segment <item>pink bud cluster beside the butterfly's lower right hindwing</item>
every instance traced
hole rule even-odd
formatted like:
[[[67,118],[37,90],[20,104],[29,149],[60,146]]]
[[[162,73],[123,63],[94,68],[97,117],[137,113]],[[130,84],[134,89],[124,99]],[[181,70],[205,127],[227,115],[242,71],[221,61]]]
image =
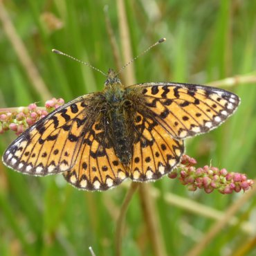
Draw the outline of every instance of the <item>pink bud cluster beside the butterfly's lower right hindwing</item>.
[[[179,172],[179,180],[183,185],[188,185],[188,190],[196,191],[198,188],[210,193],[218,190],[221,194],[246,191],[253,185],[253,180],[247,179],[246,174],[228,172],[213,166],[205,165],[203,168],[194,167],[196,160],[184,155],[179,167],[169,174],[171,179],[176,178]]]

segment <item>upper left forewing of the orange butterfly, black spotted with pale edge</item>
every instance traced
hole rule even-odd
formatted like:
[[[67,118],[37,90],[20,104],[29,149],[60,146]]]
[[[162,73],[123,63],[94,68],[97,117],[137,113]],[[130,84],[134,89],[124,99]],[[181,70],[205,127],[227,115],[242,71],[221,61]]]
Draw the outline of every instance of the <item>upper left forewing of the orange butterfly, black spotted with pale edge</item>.
[[[93,93],[64,104],[24,131],[3,154],[18,172],[44,176],[70,170],[93,122],[86,102]]]

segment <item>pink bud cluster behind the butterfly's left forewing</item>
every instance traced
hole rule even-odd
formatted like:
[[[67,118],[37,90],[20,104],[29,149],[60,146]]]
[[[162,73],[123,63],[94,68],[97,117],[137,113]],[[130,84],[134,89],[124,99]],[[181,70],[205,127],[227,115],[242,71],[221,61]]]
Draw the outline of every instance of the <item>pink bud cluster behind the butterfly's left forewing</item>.
[[[0,134],[10,129],[19,135],[62,104],[64,104],[62,98],[58,100],[53,98],[46,101],[44,108],[32,103],[28,107],[0,109]]]

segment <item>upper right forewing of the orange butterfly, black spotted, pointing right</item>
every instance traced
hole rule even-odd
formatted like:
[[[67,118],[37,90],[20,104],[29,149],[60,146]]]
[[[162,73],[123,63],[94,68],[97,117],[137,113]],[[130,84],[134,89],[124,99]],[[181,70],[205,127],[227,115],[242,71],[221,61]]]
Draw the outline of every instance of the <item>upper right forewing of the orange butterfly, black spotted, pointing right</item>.
[[[234,93],[196,84],[167,82],[129,87],[140,90],[149,113],[174,138],[187,138],[218,127],[240,102]]]

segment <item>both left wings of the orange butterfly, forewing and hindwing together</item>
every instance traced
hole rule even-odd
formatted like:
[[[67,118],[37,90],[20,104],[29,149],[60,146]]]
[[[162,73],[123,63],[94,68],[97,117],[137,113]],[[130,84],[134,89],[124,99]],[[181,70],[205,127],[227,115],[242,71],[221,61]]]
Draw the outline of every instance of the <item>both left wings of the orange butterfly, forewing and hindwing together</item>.
[[[56,109],[19,136],[3,154],[3,163],[25,174],[64,172],[84,190],[107,190],[126,177],[108,134],[95,111],[94,93]],[[94,107],[93,107],[94,106]]]

